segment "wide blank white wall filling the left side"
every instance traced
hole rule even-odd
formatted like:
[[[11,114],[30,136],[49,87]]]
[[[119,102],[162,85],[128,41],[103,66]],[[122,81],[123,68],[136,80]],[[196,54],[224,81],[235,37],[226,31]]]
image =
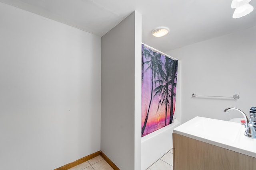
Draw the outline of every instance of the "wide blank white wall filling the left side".
[[[101,39],[0,3],[0,169],[100,150]]]

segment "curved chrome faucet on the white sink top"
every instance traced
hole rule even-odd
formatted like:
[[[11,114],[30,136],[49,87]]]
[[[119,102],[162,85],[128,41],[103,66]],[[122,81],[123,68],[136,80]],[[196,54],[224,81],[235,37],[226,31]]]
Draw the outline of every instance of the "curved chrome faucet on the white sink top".
[[[224,111],[225,112],[228,112],[230,110],[237,110],[239,111],[240,113],[242,113],[242,115],[244,116],[244,119],[245,119],[245,131],[244,131],[244,135],[246,135],[247,137],[250,137],[250,138],[256,138],[256,133],[255,133],[255,130],[254,130],[254,127],[253,127],[253,124],[252,124],[252,121],[248,119],[247,115],[240,109],[236,108],[236,107],[228,107],[226,108]]]

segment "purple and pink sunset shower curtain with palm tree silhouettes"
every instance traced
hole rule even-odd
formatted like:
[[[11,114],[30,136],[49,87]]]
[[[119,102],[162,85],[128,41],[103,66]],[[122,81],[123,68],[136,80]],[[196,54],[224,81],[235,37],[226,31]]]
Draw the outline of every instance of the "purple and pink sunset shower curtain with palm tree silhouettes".
[[[177,70],[178,60],[142,44],[142,137],[172,123]]]

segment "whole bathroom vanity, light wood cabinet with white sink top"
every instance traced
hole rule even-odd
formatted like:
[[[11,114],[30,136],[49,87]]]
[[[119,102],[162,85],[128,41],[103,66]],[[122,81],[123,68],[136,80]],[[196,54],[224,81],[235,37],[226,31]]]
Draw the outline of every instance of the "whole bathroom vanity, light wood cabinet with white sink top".
[[[239,123],[195,117],[173,130],[174,170],[256,170],[256,139]]]

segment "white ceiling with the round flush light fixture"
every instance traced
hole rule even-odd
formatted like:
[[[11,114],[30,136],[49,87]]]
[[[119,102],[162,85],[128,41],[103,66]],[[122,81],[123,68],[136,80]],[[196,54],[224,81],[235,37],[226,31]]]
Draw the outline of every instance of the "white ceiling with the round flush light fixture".
[[[256,25],[256,10],[233,19],[232,0],[0,0],[102,36],[134,10],[142,14],[142,42],[169,51]],[[250,2],[256,8],[256,0]],[[158,26],[170,33],[156,38]]]

